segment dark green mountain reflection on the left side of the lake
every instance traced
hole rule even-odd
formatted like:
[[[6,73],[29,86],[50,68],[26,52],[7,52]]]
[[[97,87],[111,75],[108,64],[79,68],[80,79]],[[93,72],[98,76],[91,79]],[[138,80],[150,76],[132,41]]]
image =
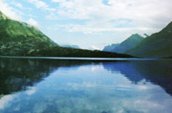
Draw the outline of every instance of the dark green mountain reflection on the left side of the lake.
[[[86,64],[77,61],[0,59],[0,94],[26,89],[40,82],[51,72],[62,66]]]

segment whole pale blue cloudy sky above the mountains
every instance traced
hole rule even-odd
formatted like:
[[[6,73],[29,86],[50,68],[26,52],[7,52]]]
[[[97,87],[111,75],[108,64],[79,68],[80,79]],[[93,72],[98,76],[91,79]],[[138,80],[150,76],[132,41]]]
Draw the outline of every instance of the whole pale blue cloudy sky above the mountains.
[[[130,35],[160,31],[172,21],[172,0],[0,0],[0,11],[59,45],[102,49]]]

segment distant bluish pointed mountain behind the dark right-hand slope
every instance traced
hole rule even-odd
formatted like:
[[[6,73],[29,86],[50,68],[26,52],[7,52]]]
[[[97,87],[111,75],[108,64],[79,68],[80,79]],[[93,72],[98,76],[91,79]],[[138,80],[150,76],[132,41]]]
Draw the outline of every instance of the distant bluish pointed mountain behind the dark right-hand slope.
[[[138,43],[140,43],[144,38],[142,36],[140,36],[139,34],[133,34],[131,35],[129,38],[127,38],[126,40],[124,40],[122,43],[118,44],[118,45],[111,45],[111,46],[106,46],[104,48],[104,50],[106,50],[106,48],[112,48],[110,50],[110,52],[116,52],[116,53],[125,53],[126,51],[134,48]]]

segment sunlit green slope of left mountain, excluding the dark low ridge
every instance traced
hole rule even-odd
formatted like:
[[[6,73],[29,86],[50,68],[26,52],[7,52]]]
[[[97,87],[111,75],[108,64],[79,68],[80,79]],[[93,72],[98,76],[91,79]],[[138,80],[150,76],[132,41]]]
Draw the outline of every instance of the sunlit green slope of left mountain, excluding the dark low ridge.
[[[27,55],[42,48],[58,46],[37,28],[11,20],[0,12],[0,54]]]

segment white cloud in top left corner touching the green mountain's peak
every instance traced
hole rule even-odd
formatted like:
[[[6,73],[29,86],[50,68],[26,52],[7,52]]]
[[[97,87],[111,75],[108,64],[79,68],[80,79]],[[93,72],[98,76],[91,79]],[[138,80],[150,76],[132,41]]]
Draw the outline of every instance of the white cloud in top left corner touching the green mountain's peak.
[[[14,11],[12,7],[4,2],[4,0],[0,0],[0,11],[12,19],[21,20],[21,17]]]

